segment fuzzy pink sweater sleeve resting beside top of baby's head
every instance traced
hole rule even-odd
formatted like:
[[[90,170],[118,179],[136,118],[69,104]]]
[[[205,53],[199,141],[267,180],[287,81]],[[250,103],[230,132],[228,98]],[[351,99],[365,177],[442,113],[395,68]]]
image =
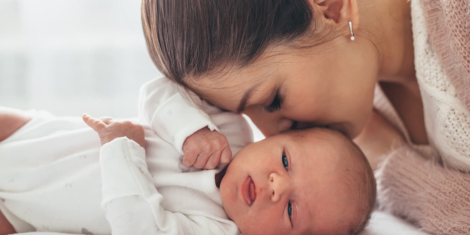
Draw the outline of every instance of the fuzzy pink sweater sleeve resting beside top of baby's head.
[[[394,150],[376,174],[379,205],[439,235],[470,234],[470,174]]]

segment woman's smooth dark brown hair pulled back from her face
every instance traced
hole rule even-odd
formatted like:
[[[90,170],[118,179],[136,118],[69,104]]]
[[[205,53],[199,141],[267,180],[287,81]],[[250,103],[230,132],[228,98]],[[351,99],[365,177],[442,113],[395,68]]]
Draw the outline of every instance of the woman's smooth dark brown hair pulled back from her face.
[[[143,0],[141,10],[150,57],[179,83],[320,34],[306,0]]]

